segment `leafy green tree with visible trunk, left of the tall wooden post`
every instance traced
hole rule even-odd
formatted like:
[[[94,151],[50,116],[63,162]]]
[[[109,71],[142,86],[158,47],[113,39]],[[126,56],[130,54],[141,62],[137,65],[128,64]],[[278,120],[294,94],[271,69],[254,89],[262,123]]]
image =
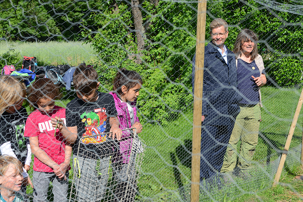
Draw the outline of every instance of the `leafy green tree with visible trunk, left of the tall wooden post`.
[[[144,120],[167,124],[192,101],[195,11],[179,3],[117,2],[109,1],[92,16],[100,27],[97,34],[82,33],[100,59],[103,87],[110,87],[117,69],[136,70],[144,78],[138,100]]]

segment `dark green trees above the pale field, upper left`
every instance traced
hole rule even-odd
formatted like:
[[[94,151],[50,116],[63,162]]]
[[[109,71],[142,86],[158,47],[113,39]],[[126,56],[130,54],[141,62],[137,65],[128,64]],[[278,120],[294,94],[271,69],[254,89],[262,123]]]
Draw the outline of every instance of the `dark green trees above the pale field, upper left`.
[[[90,13],[102,3],[102,0],[1,1],[0,36],[20,41],[78,41],[82,39],[82,21],[89,24],[85,28],[95,29]]]

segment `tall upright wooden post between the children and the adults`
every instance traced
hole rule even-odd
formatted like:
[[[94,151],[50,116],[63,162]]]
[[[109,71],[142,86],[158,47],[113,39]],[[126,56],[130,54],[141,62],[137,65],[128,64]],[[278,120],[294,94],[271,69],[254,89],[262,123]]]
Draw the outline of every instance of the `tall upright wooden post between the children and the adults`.
[[[192,129],[191,156],[191,202],[199,201],[200,193],[200,152],[201,152],[201,116],[203,92],[203,67],[205,48],[206,0],[198,3],[197,41],[194,86],[194,112]]]

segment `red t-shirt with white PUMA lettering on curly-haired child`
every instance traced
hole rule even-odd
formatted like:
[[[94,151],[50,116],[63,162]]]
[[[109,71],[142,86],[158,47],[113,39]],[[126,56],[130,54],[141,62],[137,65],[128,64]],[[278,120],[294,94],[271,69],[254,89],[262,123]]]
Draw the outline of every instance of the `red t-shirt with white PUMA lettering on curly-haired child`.
[[[65,160],[65,141],[59,132],[59,129],[52,127],[51,118],[56,116],[65,121],[65,108],[55,106],[52,113],[45,114],[36,109],[32,112],[26,120],[24,136],[35,137],[38,136],[39,147],[43,149],[47,155],[54,160],[58,165]],[[65,123],[66,124],[66,123]],[[53,172],[53,169],[34,158],[34,171],[39,172]],[[69,170],[70,168],[68,168]]]

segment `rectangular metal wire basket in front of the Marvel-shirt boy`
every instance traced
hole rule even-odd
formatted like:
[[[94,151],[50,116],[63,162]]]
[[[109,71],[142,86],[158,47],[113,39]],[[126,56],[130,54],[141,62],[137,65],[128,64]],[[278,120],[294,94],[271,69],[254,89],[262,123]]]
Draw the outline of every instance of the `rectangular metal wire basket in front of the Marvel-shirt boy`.
[[[131,136],[122,137],[121,141],[112,140],[108,136],[112,132],[84,136],[79,140],[77,155],[72,159],[74,170],[69,202],[135,201],[146,145],[133,129],[122,130],[128,131]],[[110,147],[111,154],[85,151],[80,145],[86,138],[106,139],[105,144],[97,145],[97,149],[102,151],[103,147]],[[125,147],[128,148],[125,150]],[[127,153],[124,159],[121,158],[121,148]],[[80,150],[85,155],[79,155]]]

